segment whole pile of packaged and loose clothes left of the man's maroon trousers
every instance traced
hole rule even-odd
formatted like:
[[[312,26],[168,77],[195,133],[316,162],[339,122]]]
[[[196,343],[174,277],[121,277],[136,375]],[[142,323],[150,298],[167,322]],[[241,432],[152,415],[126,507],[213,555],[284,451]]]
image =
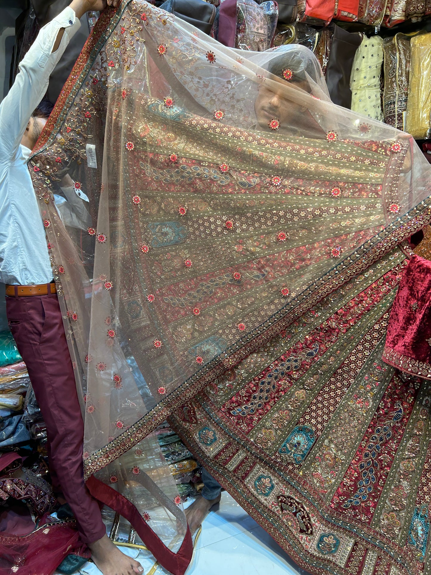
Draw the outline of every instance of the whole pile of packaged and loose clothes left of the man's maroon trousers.
[[[30,390],[30,391],[29,391]],[[34,396],[33,396],[34,397]],[[0,332],[0,531],[2,573],[52,573],[68,553],[84,553],[74,527],[51,514],[58,504],[26,425],[28,409],[39,417],[30,378],[9,330]],[[46,440],[46,434],[43,437]],[[61,529],[57,527],[61,523]],[[49,532],[49,535],[47,535]],[[76,543],[75,543],[76,540]],[[88,555],[88,554],[87,554]]]

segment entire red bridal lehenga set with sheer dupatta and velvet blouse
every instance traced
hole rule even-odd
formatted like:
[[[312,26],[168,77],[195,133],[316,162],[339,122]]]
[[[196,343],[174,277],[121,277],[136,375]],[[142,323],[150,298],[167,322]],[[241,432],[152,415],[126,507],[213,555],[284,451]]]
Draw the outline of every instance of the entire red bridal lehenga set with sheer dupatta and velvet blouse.
[[[234,51],[124,0],[29,169],[87,485],[160,563],[191,557],[151,434],[168,418],[308,572],[428,573],[431,263],[407,240],[431,178],[413,139],[333,105],[306,48]],[[88,231],[53,204],[66,173]]]

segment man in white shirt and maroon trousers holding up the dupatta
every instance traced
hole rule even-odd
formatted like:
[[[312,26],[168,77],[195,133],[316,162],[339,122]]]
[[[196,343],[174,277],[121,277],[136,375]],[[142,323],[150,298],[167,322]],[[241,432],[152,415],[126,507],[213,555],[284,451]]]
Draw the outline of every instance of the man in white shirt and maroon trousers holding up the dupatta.
[[[80,535],[104,575],[142,573],[140,564],[106,535],[97,502],[84,485],[83,421],[74,370],[48,255],[47,239],[27,167],[46,121],[36,110],[79,18],[118,0],[73,0],[44,26],[0,104],[0,282],[6,283],[9,325],[47,425],[53,489],[70,505]],[[33,113],[34,110],[34,113]]]

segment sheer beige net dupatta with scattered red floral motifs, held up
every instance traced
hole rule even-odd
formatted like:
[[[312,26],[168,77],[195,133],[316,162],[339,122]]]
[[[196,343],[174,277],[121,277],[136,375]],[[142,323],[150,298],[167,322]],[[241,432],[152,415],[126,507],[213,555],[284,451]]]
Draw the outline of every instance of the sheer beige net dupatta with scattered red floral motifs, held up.
[[[121,500],[148,547],[155,533],[177,551],[186,524],[149,434],[173,411],[193,419],[199,389],[423,227],[428,163],[407,135],[333,105],[306,48],[245,59],[125,1],[95,26],[30,171],[88,485]],[[53,205],[66,173],[87,232]],[[184,541],[166,557],[189,557]]]

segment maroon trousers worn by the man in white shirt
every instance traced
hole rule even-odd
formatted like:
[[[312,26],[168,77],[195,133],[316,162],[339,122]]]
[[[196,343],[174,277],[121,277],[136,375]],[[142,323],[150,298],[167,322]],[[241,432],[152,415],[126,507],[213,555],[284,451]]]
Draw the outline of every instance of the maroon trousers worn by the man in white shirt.
[[[97,502],[84,485],[84,423],[56,294],[6,297],[9,327],[47,425],[54,492],[63,493],[85,543],[106,533]]]

